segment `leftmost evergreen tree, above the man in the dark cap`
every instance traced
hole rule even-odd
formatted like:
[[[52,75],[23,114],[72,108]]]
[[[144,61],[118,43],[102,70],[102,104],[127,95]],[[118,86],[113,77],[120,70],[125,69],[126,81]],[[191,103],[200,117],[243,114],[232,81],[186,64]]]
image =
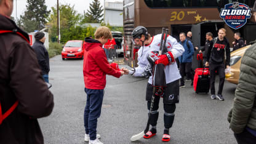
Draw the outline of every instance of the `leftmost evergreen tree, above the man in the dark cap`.
[[[46,18],[50,14],[47,10],[45,0],[26,0],[26,10],[24,15],[20,15],[18,23],[25,31],[32,32],[42,29],[46,23]]]

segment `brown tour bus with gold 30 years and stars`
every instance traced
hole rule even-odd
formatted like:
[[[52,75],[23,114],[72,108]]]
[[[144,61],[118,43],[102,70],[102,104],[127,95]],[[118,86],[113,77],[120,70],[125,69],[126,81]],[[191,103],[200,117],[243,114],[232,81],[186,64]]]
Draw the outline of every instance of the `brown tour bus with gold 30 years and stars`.
[[[226,38],[234,41],[234,33],[239,31],[247,43],[256,39],[256,23],[253,15],[247,19],[246,25],[234,30],[225,24],[220,18],[220,10],[225,4],[235,0],[124,0],[124,60],[127,65],[137,66],[137,55],[134,49],[138,49],[132,42],[132,30],[136,26],[145,26],[151,36],[160,34],[162,28],[168,28],[169,34],[179,41],[179,34],[192,31],[193,42],[196,46],[204,46],[206,33],[212,32],[214,37],[220,28],[225,28]],[[238,1],[249,7],[255,0]],[[136,52],[137,50],[135,50]],[[196,58],[194,58],[196,60]],[[193,66],[196,67],[196,66]]]

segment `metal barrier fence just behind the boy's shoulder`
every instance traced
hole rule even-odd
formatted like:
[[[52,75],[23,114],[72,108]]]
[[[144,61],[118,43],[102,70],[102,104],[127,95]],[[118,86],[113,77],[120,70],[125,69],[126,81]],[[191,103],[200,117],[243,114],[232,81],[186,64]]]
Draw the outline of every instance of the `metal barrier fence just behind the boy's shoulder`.
[[[118,58],[118,52],[117,49],[118,45],[104,45],[103,49],[105,50],[106,58],[108,62],[113,62]]]

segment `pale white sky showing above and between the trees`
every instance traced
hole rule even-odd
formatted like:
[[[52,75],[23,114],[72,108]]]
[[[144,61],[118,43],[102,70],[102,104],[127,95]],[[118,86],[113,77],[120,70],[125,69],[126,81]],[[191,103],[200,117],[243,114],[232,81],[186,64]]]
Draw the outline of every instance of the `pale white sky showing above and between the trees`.
[[[26,10],[26,0],[14,0],[14,10],[12,11],[12,17],[16,18],[16,1],[17,1],[17,18],[23,15]],[[84,10],[87,12],[89,9],[89,4],[93,0],[58,0],[59,4],[70,4],[74,5],[74,9],[78,11],[79,14],[84,14]],[[122,0],[105,0],[105,1],[122,1]],[[104,0],[100,0],[100,4],[103,6]],[[47,9],[50,7],[57,6],[57,0],[46,0]]]

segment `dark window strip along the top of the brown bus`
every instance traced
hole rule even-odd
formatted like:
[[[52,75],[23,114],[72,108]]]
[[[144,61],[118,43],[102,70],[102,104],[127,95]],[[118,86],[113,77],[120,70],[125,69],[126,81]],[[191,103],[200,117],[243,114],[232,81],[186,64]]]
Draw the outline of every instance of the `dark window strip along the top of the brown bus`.
[[[237,0],[144,0],[150,8],[168,8],[168,7],[221,7],[225,4]],[[249,7],[254,6],[255,0],[239,0]]]

